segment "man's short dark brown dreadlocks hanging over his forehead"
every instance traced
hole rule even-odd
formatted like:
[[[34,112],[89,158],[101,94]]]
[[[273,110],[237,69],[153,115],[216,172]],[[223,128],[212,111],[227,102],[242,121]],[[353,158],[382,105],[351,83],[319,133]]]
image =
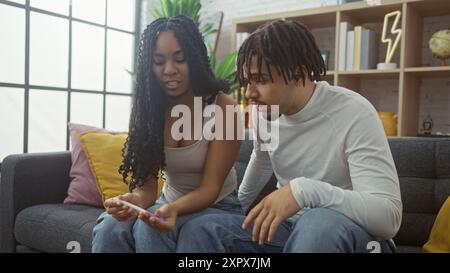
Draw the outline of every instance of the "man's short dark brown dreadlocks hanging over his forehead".
[[[258,77],[261,77],[264,61],[272,82],[269,65],[275,67],[286,84],[291,80],[298,82],[301,79],[305,85],[306,78],[320,81],[321,76],[326,74],[325,62],[313,35],[305,25],[297,21],[268,22],[244,41],[237,57],[236,77],[241,86],[252,80],[252,57],[257,60]]]

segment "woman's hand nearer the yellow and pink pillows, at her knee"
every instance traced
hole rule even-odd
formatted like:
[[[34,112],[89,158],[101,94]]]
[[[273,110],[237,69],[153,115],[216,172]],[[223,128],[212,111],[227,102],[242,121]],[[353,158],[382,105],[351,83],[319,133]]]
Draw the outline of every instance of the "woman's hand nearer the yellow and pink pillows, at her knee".
[[[120,202],[120,200],[124,200],[140,206],[140,198],[135,193],[125,193],[113,198],[109,198],[105,201],[105,207],[106,211],[111,214],[112,217],[114,217],[118,221],[125,221],[138,216],[138,213],[134,209]]]

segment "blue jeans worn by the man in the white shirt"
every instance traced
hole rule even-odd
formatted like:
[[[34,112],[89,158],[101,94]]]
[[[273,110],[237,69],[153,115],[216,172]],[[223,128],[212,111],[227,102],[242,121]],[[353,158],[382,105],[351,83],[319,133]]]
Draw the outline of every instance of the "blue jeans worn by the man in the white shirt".
[[[242,229],[245,216],[208,214],[189,221],[180,232],[179,252],[391,252],[341,213],[326,208],[307,210],[296,222],[290,218],[272,242],[252,242],[253,225]]]

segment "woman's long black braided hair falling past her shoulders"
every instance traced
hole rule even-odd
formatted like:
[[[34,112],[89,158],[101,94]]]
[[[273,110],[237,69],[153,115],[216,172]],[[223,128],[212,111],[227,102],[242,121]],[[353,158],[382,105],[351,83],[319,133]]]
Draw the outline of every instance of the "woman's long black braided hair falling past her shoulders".
[[[164,120],[166,92],[152,71],[153,53],[158,35],[172,31],[180,44],[189,67],[194,96],[206,102],[214,100],[219,91],[229,91],[226,81],[216,79],[209,65],[203,36],[195,23],[184,15],[160,18],[147,26],[139,44],[136,91],[130,115],[129,132],[122,149],[119,168],[130,191],[144,185],[150,177],[158,178],[165,167]],[[127,177],[131,174],[131,178]]]

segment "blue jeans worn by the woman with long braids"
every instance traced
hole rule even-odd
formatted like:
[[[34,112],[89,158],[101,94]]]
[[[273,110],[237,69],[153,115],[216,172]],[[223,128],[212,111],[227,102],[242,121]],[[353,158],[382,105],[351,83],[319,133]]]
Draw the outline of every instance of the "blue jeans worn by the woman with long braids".
[[[155,204],[147,210],[155,212],[165,203],[167,203],[167,200],[161,194]],[[178,216],[176,226],[166,234],[152,229],[141,220],[129,219],[121,222],[104,212],[97,219],[97,224],[94,227],[92,252],[177,252],[178,245],[182,243],[183,239],[179,236],[183,226],[193,219],[206,214],[242,215],[237,193],[231,193],[203,211]]]

